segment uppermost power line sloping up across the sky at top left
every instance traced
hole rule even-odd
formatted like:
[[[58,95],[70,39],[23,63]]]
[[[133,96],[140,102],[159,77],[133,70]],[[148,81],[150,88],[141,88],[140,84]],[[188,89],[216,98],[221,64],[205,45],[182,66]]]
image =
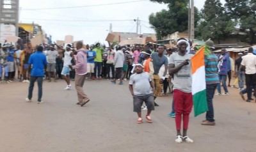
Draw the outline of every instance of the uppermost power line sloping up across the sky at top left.
[[[93,4],[93,5],[85,5],[85,6],[60,7],[60,8],[25,8],[22,10],[57,10],[57,9],[68,9],[68,8],[85,8],[85,7],[93,7],[93,6],[107,6],[107,5],[113,5],[113,4],[134,3],[134,2],[140,2],[140,1],[145,1],[145,0],[127,1],[127,2],[120,2],[120,3],[108,3],[108,4]]]

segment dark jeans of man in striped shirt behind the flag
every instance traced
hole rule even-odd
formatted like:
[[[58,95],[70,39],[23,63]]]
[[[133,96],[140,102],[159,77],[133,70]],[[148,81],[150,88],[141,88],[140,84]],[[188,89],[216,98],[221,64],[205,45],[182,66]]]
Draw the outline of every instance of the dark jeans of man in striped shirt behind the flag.
[[[206,84],[206,100],[208,105],[208,111],[206,112],[206,120],[214,122],[214,109],[212,105],[212,98],[214,96],[216,87],[218,84]]]

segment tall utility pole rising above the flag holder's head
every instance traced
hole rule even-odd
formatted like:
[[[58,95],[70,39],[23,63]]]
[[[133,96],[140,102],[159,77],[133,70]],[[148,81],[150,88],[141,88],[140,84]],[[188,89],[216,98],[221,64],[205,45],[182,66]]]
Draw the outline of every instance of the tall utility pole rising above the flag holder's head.
[[[194,0],[189,0],[188,7],[188,35],[191,42],[195,39],[195,7]]]

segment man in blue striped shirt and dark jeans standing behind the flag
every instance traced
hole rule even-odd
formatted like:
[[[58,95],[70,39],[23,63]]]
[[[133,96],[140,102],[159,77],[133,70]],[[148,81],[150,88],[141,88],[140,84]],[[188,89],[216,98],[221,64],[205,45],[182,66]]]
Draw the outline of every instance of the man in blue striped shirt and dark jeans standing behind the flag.
[[[211,51],[214,49],[213,42],[208,40],[205,45],[209,46]],[[212,98],[214,97],[215,90],[220,83],[218,76],[218,57],[215,54],[205,56],[205,82],[206,82],[206,100],[208,105],[208,111],[206,112],[205,120],[202,125],[215,125],[214,109],[212,104]]]

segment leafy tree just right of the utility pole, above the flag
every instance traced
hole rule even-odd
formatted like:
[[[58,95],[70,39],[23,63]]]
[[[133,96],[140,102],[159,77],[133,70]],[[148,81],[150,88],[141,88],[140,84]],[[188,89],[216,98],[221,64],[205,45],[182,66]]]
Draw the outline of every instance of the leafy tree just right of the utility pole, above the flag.
[[[206,0],[201,11],[202,20],[196,28],[196,38],[207,40],[225,39],[234,31],[235,23],[226,14],[220,0]]]

